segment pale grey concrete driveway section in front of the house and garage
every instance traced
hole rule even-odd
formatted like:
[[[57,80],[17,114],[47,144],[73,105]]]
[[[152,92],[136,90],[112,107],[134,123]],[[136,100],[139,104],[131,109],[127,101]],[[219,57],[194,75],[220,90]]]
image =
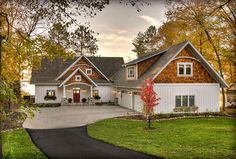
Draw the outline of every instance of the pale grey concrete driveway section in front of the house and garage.
[[[98,120],[125,115],[134,115],[136,112],[119,106],[61,106],[41,108],[33,119],[26,119],[24,128],[55,129],[84,126]]]

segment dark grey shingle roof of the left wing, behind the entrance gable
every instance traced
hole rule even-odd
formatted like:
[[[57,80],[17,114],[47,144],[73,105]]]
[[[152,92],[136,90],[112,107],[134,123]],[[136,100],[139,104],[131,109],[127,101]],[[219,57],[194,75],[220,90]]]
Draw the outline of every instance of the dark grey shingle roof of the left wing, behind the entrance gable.
[[[121,65],[124,64],[122,57],[87,57],[99,70],[107,77],[111,78]],[[57,81],[56,78],[62,74],[78,57],[63,60],[56,58],[49,60],[47,58],[41,59],[41,67],[32,70],[31,83],[32,84],[55,84],[58,85],[62,81]],[[104,66],[103,66],[104,64]],[[112,67],[111,67],[112,66]],[[107,83],[106,80],[94,80],[97,84]]]

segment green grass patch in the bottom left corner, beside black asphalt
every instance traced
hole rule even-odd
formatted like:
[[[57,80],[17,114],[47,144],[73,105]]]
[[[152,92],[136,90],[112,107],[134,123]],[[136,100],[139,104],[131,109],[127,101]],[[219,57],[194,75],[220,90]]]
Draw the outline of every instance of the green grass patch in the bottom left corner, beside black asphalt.
[[[47,157],[32,143],[24,129],[2,133],[3,158],[46,159]]]

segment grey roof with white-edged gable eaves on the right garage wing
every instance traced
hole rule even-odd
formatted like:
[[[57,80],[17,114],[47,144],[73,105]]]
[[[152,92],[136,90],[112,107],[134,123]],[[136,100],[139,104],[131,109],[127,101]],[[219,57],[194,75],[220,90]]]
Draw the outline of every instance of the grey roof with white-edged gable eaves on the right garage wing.
[[[197,51],[197,49],[189,41],[184,41],[182,43],[173,45],[165,51],[154,52],[149,54],[148,57],[154,57],[160,55],[160,58],[137,80],[126,80],[125,67],[116,73],[114,81],[118,87],[130,87],[130,88],[140,88],[143,81],[148,77],[155,79],[162,70],[185,48],[188,47],[192,50],[192,53],[201,61],[203,66],[208,70],[208,72],[221,84],[222,87],[227,87],[227,83],[220,77],[220,75],[214,70],[214,68],[205,60],[205,58]],[[146,57],[147,58],[147,57]],[[134,64],[143,61],[145,58],[141,58],[136,61],[131,61],[128,63]],[[148,59],[148,58],[147,58]],[[127,66],[127,64],[125,64]]]

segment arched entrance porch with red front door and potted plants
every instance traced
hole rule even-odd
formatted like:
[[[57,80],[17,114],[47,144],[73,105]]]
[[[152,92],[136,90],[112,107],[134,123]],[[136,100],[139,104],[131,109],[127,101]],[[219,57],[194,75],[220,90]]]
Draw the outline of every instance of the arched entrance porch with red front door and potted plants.
[[[62,90],[62,104],[92,104],[93,85],[82,82],[74,82],[63,84]]]

